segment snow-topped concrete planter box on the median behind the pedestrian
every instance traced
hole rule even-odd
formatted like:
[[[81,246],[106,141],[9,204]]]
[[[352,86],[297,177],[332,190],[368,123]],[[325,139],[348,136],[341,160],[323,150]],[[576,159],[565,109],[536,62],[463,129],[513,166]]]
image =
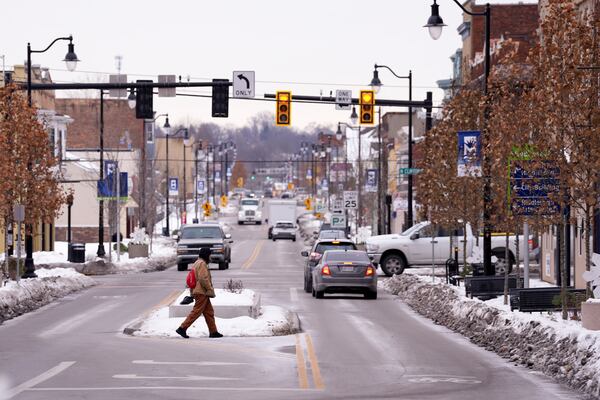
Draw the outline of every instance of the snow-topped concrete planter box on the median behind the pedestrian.
[[[246,289],[247,290],[247,289]],[[217,318],[250,317],[258,318],[260,315],[260,294],[253,292],[250,298],[240,295],[240,301],[231,301],[231,294],[225,294],[223,289],[216,289],[216,297],[210,302]],[[179,297],[169,305],[169,318],[182,318],[192,311],[194,303],[179,304],[185,296],[190,294],[189,289],[184,290]]]

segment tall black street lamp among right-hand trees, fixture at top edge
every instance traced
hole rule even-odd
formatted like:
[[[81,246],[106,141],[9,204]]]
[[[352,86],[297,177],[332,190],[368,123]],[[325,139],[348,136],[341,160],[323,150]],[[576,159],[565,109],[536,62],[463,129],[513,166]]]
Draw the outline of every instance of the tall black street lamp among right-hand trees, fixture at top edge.
[[[488,93],[488,78],[490,76],[491,57],[490,57],[490,30],[491,30],[491,18],[492,9],[489,3],[485,5],[485,11],[483,12],[472,12],[467,10],[458,0],[453,0],[464,13],[473,17],[485,17],[485,43],[484,43],[484,62],[483,62],[483,94],[484,96]],[[437,40],[442,35],[442,29],[446,26],[442,17],[440,17],[439,6],[436,0],[433,0],[431,5],[431,16],[427,20],[426,28],[429,29],[429,35],[432,39]],[[486,106],[483,113],[483,129],[481,132],[482,141],[487,137],[488,128],[488,117],[489,110]],[[483,144],[481,146],[484,148]],[[490,162],[487,152],[483,152],[482,160],[483,169],[483,268],[486,275],[494,275],[495,271],[492,266],[492,227],[490,225],[490,217],[492,213],[492,201],[491,201],[491,170]]]

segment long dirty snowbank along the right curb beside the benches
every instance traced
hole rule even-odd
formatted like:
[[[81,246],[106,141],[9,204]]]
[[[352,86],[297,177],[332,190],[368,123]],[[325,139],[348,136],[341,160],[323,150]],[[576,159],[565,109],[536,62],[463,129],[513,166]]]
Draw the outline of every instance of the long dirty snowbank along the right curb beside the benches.
[[[381,286],[418,313],[468,337],[515,364],[600,396],[600,332],[575,321],[510,312],[468,299],[459,289],[426,278],[396,275]]]

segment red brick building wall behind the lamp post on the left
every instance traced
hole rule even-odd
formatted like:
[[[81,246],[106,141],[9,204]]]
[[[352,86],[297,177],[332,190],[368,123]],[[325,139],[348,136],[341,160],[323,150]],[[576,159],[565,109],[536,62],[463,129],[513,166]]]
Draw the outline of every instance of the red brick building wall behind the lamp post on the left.
[[[67,149],[90,149],[100,146],[100,99],[56,99],[56,111],[69,115]],[[104,148],[116,149],[119,138],[129,131],[131,145],[140,149],[144,120],[135,118],[127,100],[104,99]]]

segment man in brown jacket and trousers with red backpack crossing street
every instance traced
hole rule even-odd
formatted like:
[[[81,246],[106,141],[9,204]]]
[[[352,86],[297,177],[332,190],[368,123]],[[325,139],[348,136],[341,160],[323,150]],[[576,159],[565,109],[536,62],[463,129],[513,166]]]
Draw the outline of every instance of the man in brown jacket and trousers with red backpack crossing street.
[[[210,299],[215,297],[215,289],[212,285],[212,277],[210,276],[210,270],[208,269],[208,262],[210,259],[210,249],[203,247],[200,250],[200,256],[198,260],[192,265],[192,269],[196,274],[196,287],[192,289],[192,296],[194,297],[194,308],[187,316],[185,321],[181,324],[175,332],[180,334],[184,338],[189,338],[186,331],[194,321],[200,317],[200,314],[204,314],[204,320],[208,326],[209,337],[219,338],[223,337],[217,331],[217,325],[215,324],[215,311],[210,304]]]

